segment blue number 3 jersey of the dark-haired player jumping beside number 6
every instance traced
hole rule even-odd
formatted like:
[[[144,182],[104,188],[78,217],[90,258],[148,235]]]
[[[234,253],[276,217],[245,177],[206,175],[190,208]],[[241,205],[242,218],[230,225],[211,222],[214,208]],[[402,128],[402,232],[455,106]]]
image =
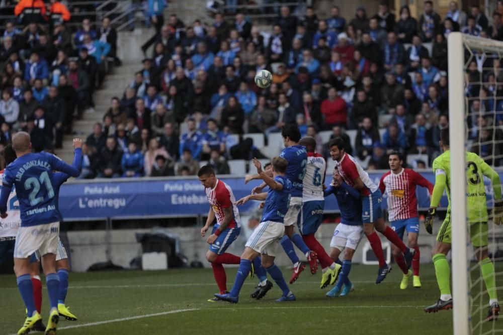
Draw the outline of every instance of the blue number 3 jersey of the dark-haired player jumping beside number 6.
[[[288,162],[285,177],[292,182],[291,196],[302,197],[302,182],[307,169],[307,151],[304,146],[293,145],[280,154]]]

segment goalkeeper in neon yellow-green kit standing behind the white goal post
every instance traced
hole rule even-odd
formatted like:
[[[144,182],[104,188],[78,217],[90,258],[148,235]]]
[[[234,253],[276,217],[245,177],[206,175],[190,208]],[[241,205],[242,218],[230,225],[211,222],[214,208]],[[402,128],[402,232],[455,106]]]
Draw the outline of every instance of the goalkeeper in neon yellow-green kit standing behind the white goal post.
[[[430,204],[430,210],[425,220],[425,227],[428,233],[433,232],[433,221],[435,219],[436,208],[440,203],[440,198],[447,187],[447,198],[449,206],[444,223],[437,235],[437,242],[433,248],[433,263],[437,275],[437,283],[440,288],[440,299],[433,305],[425,308],[425,312],[437,312],[441,309],[452,308],[451,287],[449,283],[450,269],[446,255],[451,250],[451,185],[450,185],[450,155],[449,150],[449,129],[443,129],[440,134],[440,146],[444,153],[433,162],[435,172],[435,188]],[[503,223],[503,203],[501,202],[501,184],[498,174],[485,163],[478,155],[466,153],[466,196],[467,196],[467,216],[470,225],[470,239],[476,248],[475,255],[480,262],[480,270],[485,282],[485,287],[489,294],[489,312],[486,320],[497,320],[499,315],[499,304],[496,294],[494,266],[488,257],[487,252],[487,204],[483,176],[491,180],[494,189],[494,224]],[[455,222],[460,224],[460,222]]]

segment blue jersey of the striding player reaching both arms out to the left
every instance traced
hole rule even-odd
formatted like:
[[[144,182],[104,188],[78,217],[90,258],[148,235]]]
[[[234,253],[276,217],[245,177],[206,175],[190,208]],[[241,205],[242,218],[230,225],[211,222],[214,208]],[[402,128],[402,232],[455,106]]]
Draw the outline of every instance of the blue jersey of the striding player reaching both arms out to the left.
[[[262,214],[262,222],[273,221],[282,224],[290,205],[292,183],[283,176],[276,176],[274,180],[283,185],[283,188],[279,191],[269,188],[264,205],[264,214]]]

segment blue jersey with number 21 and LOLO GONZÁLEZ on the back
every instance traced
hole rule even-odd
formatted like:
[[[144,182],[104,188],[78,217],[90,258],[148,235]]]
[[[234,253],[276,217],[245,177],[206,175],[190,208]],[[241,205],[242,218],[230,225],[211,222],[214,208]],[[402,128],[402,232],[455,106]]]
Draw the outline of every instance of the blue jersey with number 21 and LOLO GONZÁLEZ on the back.
[[[7,200],[15,185],[21,209],[21,227],[59,221],[53,170],[73,177],[79,174],[77,168],[46,152],[29,153],[9,164],[4,172],[0,213],[7,211]]]

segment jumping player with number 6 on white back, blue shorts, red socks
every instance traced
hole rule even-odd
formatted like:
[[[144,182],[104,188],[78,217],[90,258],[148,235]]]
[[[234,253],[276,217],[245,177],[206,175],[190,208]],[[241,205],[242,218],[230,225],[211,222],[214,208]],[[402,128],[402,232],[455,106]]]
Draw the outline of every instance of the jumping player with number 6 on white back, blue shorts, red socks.
[[[335,263],[325,252],[323,246],[316,240],[314,234],[323,220],[323,184],[325,182],[325,159],[315,152],[316,140],[310,136],[303,137],[299,144],[306,147],[307,168],[303,179],[302,209],[299,213],[298,227],[302,239],[309,249],[313,250],[321,264],[320,288],[333,285],[342,265]],[[339,260],[339,259],[337,259]]]

